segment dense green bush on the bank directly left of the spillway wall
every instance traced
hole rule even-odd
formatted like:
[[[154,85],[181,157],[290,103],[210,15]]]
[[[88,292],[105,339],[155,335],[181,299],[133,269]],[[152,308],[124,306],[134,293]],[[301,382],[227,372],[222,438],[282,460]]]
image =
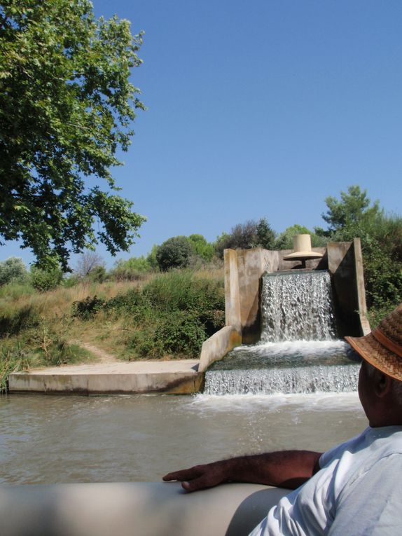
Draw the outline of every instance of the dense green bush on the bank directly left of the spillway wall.
[[[225,324],[223,281],[171,271],[142,291],[131,289],[112,298],[104,310],[125,317],[135,328],[127,341],[131,355],[197,357],[202,343]]]

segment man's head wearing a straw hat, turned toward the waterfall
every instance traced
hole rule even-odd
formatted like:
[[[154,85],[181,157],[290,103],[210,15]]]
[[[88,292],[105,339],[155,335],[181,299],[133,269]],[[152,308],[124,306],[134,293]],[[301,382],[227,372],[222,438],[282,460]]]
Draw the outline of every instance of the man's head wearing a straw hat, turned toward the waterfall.
[[[402,425],[402,303],[370,334],[346,340],[363,357],[359,397],[370,425]]]

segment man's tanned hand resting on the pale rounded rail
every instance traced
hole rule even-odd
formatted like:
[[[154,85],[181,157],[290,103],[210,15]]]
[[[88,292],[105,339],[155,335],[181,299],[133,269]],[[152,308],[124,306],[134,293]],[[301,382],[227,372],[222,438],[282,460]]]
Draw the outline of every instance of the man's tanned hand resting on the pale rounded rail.
[[[178,480],[186,491],[197,491],[205,488],[213,488],[223,482],[228,482],[228,460],[195,465],[190,469],[182,469],[168,473],[163,477],[165,482]]]

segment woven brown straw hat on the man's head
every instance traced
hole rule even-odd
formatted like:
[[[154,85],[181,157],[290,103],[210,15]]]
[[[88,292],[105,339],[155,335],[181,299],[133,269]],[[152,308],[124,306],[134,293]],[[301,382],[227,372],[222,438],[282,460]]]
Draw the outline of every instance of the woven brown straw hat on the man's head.
[[[345,337],[363,359],[402,381],[402,303],[364,337]]]

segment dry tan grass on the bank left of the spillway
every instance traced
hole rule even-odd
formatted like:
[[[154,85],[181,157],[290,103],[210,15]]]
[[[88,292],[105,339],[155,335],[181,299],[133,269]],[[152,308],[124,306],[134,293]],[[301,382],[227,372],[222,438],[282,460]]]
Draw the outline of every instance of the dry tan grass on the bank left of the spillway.
[[[106,302],[118,295],[127,294],[131,289],[141,291],[145,285],[157,277],[164,280],[165,276],[151,273],[136,281],[82,282],[74,287],[59,287],[44,293],[23,293],[20,289],[15,293],[11,291],[9,294],[0,294],[0,324],[1,319],[5,319],[4,329],[7,330],[8,325],[15,325],[13,322],[10,324],[8,319],[11,321],[16,319],[17,322],[17,328],[3,338],[3,341],[9,348],[19,345],[25,351],[33,353],[38,348],[39,351],[43,350],[52,341],[57,341],[57,343],[62,341],[70,345],[90,345],[116,357],[130,359],[130,343],[136,331],[149,328],[147,319],[144,320],[145,324],[142,326],[138,320],[133,322],[130,313],[115,316],[102,310],[99,310],[93,317],[82,319],[71,314],[72,305],[74,302],[85,301],[88,297],[97,296],[99,300]],[[191,277],[222,282],[223,268],[212,266],[202,270],[188,270],[188,272],[183,270],[177,273],[177,284],[181,287],[180,281],[183,280],[185,284],[186,280],[190,280]],[[179,289],[176,290],[179,291]],[[22,315],[24,311],[27,311],[27,315]],[[7,331],[2,333],[4,336]],[[88,357],[83,354],[82,359],[88,359]]]

